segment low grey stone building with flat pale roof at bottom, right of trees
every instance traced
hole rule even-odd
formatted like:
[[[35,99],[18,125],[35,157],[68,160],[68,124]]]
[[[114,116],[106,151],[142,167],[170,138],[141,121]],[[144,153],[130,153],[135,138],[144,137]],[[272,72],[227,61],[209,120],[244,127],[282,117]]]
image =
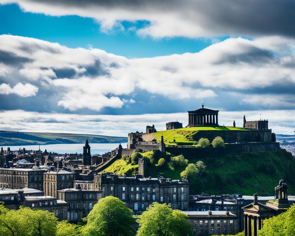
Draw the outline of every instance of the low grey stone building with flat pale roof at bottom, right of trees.
[[[229,211],[183,211],[194,235],[237,234],[238,216]]]

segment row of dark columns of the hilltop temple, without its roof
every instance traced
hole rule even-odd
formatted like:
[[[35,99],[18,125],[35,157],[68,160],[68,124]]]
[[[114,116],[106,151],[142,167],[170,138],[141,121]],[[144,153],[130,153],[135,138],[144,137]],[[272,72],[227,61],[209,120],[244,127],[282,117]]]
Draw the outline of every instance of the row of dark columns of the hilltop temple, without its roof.
[[[218,125],[218,113],[189,113],[189,125]]]

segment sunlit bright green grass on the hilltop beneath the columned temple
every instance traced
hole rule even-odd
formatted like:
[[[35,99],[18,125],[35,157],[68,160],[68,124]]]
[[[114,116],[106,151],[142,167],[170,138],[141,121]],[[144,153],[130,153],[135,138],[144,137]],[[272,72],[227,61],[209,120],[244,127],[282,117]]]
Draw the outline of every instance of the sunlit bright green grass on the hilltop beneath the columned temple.
[[[246,128],[240,127],[222,127],[222,126],[202,126],[202,127],[191,127],[191,128],[180,128],[166,131],[160,131],[148,134],[149,139],[156,139],[158,142],[161,141],[161,136],[164,136],[164,142],[166,145],[176,145],[181,143],[182,145],[192,145],[193,135],[200,130],[245,130]],[[175,140],[175,142],[173,142]]]

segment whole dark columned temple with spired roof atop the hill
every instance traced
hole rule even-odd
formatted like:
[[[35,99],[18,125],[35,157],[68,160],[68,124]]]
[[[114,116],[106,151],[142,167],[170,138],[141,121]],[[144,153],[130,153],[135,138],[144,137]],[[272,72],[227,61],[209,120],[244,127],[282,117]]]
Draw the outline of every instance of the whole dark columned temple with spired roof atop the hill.
[[[202,125],[218,126],[218,110],[202,108],[195,111],[188,111],[188,125],[186,127],[195,127]]]

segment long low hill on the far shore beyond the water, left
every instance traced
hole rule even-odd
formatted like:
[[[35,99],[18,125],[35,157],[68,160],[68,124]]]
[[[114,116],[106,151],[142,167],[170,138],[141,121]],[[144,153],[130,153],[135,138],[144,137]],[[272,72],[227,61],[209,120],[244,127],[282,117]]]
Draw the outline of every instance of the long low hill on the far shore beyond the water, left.
[[[92,134],[34,133],[0,131],[0,145],[47,145],[47,144],[81,144],[86,138],[90,143],[127,143],[126,137],[112,137]]]

